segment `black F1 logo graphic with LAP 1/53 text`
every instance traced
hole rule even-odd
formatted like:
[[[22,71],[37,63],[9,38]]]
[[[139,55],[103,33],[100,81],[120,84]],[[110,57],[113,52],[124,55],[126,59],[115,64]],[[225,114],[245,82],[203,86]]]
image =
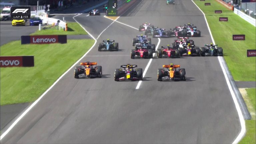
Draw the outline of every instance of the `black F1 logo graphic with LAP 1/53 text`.
[[[28,6],[11,7],[11,19],[30,19],[31,8]]]

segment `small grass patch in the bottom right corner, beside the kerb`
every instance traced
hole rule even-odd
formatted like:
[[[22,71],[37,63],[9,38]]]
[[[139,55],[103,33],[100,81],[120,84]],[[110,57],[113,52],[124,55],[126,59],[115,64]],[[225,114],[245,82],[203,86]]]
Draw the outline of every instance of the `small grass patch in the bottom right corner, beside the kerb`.
[[[253,113],[255,115],[256,111],[256,89],[255,88],[249,88],[246,89],[247,97],[249,99],[250,104],[246,103],[246,105],[252,105],[253,110],[250,111],[250,113]],[[246,125],[246,135],[244,138],[239,142],[239,144],[255,144],[256,143],[256,120],[255,116],[252,116],[251,120],[245,120]]]

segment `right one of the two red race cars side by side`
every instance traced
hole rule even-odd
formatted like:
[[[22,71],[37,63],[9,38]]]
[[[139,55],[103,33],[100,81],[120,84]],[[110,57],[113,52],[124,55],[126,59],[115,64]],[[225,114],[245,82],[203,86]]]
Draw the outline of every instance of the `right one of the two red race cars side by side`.
[[[157,57],[180,57],[180,50],[175,49],[174,47],[167,45],[161,46],[161,49],[157,49]]]

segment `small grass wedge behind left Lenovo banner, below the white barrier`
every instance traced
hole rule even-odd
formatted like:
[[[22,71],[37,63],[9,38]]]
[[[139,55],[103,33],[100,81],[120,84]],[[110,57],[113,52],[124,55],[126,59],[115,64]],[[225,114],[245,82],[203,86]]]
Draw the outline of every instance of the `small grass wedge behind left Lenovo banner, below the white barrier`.
[[[88,33],[76,22],[67,22],[68,31],[47,29],[36,31],[30,35],[87,35]]]

